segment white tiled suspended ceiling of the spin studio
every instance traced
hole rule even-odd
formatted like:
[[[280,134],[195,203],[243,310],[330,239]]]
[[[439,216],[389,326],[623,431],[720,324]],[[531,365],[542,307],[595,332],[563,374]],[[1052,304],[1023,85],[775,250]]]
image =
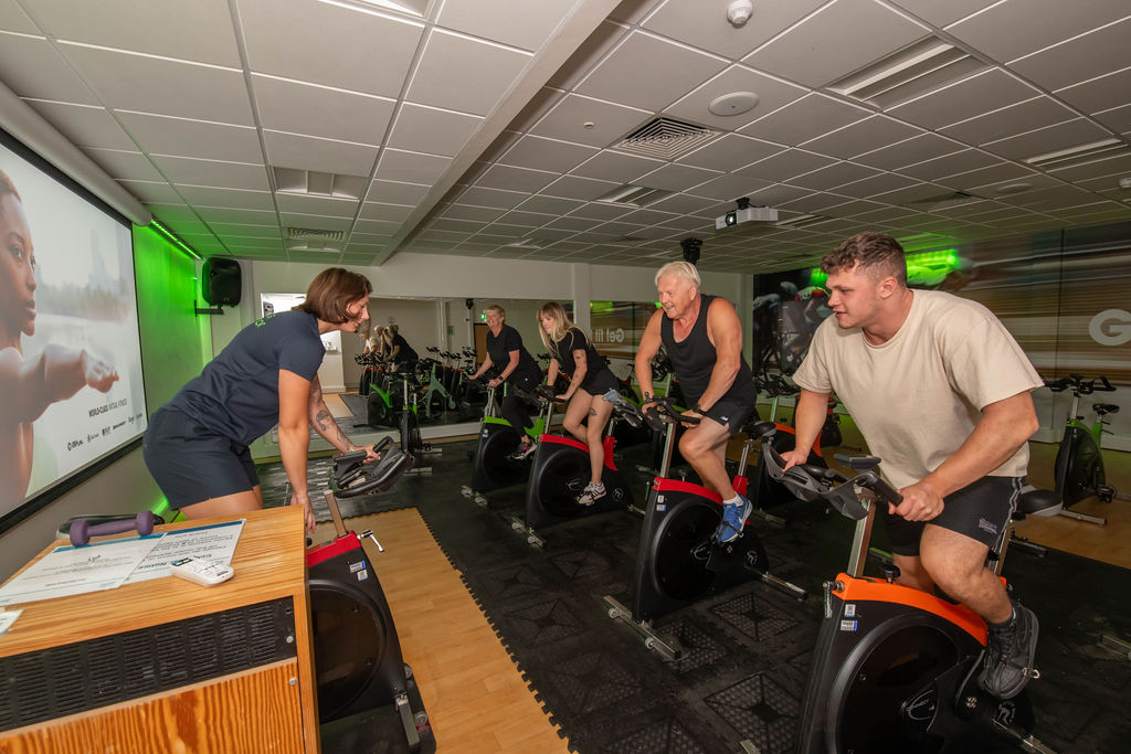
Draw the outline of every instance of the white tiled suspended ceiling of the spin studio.
[[[701,268],[751,272],[862,229],[940,248],[1131,219],[1126,0],[754,0],[741,27],[729,0],[415,5],[0,0],[0,80],[205,254],[655,267],[694,236]],[[938,44],[950,68],[852,96]],[[739,92],[758,105],[710,113]],[[616,146],[659,115],[716,132]],[[597,201],[624,184],[671,193]],[[813,217],[716,232],[739,197]]]

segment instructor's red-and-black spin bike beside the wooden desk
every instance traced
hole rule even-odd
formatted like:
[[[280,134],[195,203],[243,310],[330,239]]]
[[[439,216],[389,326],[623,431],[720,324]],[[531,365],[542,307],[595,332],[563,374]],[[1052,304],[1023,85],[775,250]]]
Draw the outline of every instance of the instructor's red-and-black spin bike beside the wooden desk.
[[[435,736],[375,569],[385,548],[372,531],[346,530],[338,511],[337,497],[383,492],[413,466],[389,437],[374,450],[372,463],[364,450],[335,457],[326,504],[336,536],[307,551],[319,734],[327,752],[431,753]]]

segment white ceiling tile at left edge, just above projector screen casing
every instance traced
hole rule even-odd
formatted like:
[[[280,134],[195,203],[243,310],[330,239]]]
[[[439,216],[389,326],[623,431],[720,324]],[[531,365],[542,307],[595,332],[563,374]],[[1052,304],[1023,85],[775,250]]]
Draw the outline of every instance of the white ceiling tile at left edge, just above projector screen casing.
[[[0,32],[0,76],[25,98],[98,104],[67,61],[42,37]]]

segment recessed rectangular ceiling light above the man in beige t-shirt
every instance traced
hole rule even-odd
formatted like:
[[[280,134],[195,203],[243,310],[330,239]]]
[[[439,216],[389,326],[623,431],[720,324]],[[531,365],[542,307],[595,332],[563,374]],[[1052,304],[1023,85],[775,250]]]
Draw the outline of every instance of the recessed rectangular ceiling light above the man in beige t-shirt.
[[[877,107],[913,99],[988,66],[932,36],[834,81],[829,88]]]

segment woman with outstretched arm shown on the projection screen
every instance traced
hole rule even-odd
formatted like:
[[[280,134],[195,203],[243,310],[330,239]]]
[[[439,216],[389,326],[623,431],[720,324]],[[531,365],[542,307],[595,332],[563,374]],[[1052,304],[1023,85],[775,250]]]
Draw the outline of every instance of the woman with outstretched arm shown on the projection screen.
[[[48,344],[24,354],[35,335],[35,244],[16,185],[0,171],[0,515],[24,502],[32,478],[34,422],[83,388],[107,392],[118,372],[85,349]]]

